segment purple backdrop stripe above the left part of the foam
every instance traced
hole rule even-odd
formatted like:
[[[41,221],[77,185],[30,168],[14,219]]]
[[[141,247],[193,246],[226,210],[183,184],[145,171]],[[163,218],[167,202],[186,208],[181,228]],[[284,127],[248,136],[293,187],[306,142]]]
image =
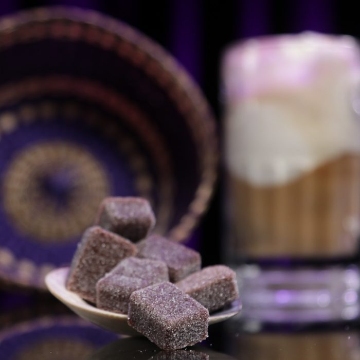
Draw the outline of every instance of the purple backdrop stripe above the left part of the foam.
[[[270,0],[238,0],[235,31],[238,38],[266,35],[270,30]]]

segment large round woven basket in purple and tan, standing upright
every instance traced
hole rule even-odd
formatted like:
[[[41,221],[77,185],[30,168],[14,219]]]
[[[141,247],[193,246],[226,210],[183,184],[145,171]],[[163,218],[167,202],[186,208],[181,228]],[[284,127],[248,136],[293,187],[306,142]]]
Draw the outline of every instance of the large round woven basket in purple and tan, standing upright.
[[[99,202],[147,197],[186,239],[211,195],[214,121],[199,88],[128,25],[74,8],[0,20],[0,277],[43,287]]]

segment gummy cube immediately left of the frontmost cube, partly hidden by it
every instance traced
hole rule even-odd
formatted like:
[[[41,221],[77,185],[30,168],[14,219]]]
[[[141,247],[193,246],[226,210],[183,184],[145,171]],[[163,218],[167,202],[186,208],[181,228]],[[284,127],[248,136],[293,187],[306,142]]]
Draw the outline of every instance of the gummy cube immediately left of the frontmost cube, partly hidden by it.
[[[148,286],[147,280],[122,275],[109,275],[96,284],[96,306],[114,313],[127,314],[130,295]]]

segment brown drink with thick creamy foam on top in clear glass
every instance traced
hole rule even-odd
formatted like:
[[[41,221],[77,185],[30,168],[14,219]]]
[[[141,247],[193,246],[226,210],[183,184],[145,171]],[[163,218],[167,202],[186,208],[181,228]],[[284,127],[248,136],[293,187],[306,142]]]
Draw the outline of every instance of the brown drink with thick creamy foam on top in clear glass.
[[[353,256],[360,233],[360,55],[312,32],[247,40],[223,62],[236,258]]]

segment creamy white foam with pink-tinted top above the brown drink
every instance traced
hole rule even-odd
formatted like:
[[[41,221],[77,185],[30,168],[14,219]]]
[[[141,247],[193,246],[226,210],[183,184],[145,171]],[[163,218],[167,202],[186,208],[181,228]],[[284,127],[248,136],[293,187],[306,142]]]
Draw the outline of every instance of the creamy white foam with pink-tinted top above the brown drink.
[[[350,37],[254,39],[225,55],[229,170],[261,186],[360,154],[360,55]]]

